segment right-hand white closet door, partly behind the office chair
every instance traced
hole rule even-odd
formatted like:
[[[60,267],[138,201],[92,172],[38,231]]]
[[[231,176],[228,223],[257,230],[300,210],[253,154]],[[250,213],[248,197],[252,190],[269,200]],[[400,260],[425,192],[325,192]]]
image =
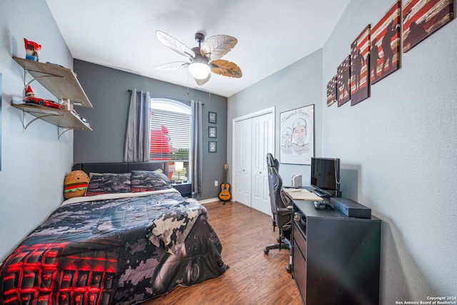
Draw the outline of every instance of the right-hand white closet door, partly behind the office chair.
[[[273,114],[256,116],[252,121],[252,182],[251,206],[253,209],[271,214],[268,195],[268,170],[266,154],[274,154]]]

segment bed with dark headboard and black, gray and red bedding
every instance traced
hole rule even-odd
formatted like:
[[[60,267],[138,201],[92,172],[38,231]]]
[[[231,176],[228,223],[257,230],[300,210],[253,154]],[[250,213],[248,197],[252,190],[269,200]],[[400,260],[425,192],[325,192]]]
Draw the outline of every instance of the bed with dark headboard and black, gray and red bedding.
[[[136,304],[228,269],[206,209],[170,186],[166,162],[73,170],[94,174],[91,196],[65,200],[6,258],[0,304]]]

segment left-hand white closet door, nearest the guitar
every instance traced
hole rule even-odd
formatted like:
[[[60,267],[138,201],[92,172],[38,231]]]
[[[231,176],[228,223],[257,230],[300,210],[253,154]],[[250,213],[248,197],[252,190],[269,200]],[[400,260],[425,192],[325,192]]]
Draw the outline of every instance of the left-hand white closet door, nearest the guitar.
[[[251,206],[251,119],[236,123],[236,181],[233,199]]]

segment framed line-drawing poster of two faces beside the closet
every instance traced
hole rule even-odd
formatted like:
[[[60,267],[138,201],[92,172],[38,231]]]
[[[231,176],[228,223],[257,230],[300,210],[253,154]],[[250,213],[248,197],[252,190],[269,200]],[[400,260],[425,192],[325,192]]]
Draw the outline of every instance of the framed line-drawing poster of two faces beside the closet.
[[[281,112],[280,161],[311,165],[314,156],[314,105]]]

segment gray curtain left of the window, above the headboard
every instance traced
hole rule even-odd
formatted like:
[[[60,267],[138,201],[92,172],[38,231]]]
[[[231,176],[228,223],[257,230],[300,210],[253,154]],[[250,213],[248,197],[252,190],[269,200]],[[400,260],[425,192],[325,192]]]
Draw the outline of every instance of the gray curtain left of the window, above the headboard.
[[[131,91],[124,162],[148,162],[151,156],[151,98],[149,92]]]

